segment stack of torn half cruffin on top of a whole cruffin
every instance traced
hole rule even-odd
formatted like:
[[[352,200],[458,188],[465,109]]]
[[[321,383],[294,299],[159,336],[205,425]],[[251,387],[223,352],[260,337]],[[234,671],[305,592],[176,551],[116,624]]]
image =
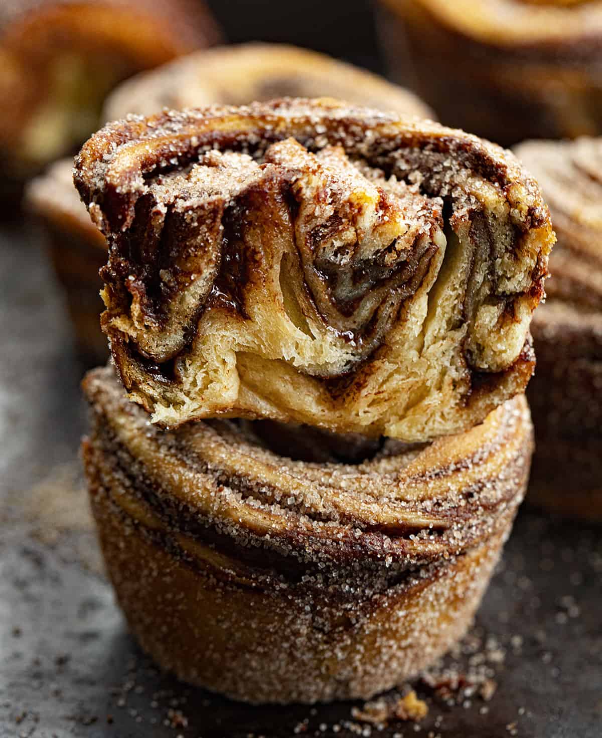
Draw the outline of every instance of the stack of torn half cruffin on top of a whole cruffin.
[[[114,359],[83,457],[142,647],[255,703],[420,672],[525,492],[533,179],[462,131],[288,99],[111,123],[75,183]]]

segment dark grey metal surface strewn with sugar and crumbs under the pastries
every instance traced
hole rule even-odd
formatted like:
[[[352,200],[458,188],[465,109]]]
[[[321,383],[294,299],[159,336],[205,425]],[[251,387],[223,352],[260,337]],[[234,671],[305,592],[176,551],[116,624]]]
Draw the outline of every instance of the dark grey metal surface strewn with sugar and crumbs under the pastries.
[[[1,737],[602,735],[602,531],[526,510],[477,618],[497,681],[488,703],[429,695],[421,725],[380,732],[349,704],[251,708],[159,675],[95,549],[77,472],[82,368],[60,294],[35,238],[8,228],[0,345]]]

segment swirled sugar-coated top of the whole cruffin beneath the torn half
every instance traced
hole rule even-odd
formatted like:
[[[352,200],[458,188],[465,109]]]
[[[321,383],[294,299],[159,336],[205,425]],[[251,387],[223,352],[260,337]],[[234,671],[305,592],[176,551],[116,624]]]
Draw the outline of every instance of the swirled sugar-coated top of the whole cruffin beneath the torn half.
[[[353,570],[354,582],[374,587],[378,571],[394,578],[463,554],[508,525],[532,450],[523,396],[462,435],[416,446],[386,441],[350,465],[277,455],[253,424],[149,427],[110,367],[89,373],[83,388],[103,485],[111,490],[112,477],[128,489],[116,505],[181,542],[211,545],[215,556],[235,553],[236,568],[258,573],[303,576],[315,566],[345,579]]]

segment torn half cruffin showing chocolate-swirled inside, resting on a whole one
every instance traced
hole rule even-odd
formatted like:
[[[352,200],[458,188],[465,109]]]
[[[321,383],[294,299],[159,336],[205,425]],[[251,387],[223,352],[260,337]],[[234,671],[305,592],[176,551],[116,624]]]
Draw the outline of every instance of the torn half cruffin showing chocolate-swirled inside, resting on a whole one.
[[[131,117],[75,181],[131,399],[424,441],[520,393],[553,243],[516,159],[333,100]]]

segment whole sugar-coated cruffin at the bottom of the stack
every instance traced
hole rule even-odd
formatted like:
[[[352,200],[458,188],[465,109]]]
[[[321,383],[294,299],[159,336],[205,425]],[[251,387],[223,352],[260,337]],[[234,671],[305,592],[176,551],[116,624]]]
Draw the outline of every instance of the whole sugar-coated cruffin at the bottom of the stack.
[[[522,396],[350,465],[278,455],[252,422],[159,430],[111,368],[84,389],[91,501],[131,629],[163,668],[251,702],[367,698],[449,648],[528,475]]]

